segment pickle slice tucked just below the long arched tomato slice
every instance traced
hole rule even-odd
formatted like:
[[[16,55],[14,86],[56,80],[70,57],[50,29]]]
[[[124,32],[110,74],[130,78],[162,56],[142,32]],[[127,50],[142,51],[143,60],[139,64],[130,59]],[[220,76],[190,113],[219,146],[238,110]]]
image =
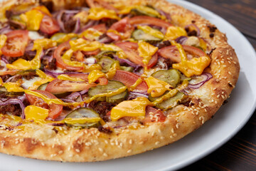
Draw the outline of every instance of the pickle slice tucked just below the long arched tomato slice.
[[[148,43],[158,43],[159,41],[161,41],[160,38],[152,36],[149,33],[145,33],[141,29],[137,29],[134,32],[132,32],[132,38],[134,38],[137,41],[143,40],[143,41],[146,41]]]

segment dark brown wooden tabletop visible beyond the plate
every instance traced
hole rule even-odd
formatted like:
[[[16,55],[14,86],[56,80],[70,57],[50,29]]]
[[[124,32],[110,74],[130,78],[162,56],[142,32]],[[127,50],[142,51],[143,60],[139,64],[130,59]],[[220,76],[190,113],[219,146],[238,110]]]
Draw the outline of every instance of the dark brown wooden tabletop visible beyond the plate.
[[[238,28],[256,49],[256,0],[188,0],[213,11]],[[253,78],[256,79],[256,78]],[[225,145],[186,170],[256,170],[256,111]]]

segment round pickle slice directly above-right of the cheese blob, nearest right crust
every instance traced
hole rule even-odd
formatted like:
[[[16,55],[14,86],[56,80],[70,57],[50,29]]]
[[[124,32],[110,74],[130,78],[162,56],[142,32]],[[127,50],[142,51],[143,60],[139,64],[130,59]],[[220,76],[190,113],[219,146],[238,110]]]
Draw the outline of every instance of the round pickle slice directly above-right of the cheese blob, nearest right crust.
[[[181,81],[181,73],[176,69],[156,71],[151,76],[169,83],[169,85],[173,86],[174,88]]]

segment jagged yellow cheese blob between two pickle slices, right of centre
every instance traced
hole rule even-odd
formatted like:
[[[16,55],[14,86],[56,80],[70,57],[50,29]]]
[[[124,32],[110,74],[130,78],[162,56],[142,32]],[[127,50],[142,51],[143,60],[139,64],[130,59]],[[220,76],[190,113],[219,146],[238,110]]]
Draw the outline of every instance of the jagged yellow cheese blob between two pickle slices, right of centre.
[[[166,90],[171,90],[171,86],[169,83],[166,83],[164,81],[160,81],[159,79],[156,79],[152,76],[149,76],[149,78],[145,79],[147,86],[149,86],[149,89],[147,90],[148,93],[151,93],[152,98],[159,97],[160,95],[163,95]]]

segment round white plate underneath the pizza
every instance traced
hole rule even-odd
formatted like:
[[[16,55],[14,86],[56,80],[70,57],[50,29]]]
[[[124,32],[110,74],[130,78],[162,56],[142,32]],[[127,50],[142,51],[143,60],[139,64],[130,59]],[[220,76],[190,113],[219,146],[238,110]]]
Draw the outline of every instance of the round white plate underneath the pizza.
[[[0,0],[1,1],[1,0]],[[212,12],[187,1],[171,1],[194,11],[220,31],[227,33],[228,42],[240,60],[238,84],[228,103],[220,108],[215,117],[178,142],[140,155],[94,163],[68,163],[33,160],[0,154],[0,170],[177,170],[195,162],[230,140],[249,120],[255,110],[256,55],[242,34],[227,21]]]

